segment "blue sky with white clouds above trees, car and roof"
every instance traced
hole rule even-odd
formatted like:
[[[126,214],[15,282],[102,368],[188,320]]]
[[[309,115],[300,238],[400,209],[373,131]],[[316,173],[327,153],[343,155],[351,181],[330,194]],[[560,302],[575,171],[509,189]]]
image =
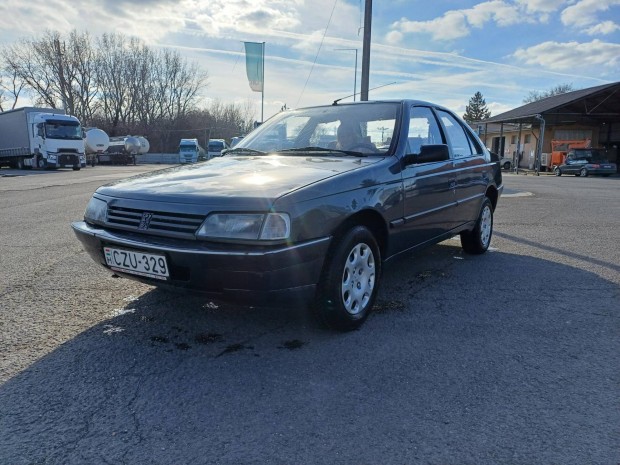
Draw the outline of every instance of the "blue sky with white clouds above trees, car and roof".
[[[243,41],[265,42],[265,118],[357,91],[365,0],[2,0],[0,46],[45,29],[122,32],[209,74],[203,98],[256,105]],[[620,81],[620,0],[374,0],[370,99],[416,98],[493,115],[532,90]],[[349,50],[341,50],[349,49]],[[378,87],[375,90],[372,88]],[[352,100],[352,99],[348,99]]]

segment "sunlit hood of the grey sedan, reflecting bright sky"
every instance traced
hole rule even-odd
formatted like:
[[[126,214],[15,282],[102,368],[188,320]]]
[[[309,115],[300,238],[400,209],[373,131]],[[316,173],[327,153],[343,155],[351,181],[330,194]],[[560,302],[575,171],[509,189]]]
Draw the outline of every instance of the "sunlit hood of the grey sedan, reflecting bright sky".
[[[376,163],[379,157],[224,156],[141,174],[97,189],[132,200],[234,205],[274,201],[323,179]]]

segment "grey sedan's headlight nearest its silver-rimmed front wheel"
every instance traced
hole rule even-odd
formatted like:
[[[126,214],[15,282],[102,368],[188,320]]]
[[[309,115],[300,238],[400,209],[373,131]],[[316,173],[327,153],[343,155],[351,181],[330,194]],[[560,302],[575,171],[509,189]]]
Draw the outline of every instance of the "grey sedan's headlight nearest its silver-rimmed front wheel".
[[[281,240],[291,232],[286,213],[214,213],[202,224],[198,237],[222,239]]]

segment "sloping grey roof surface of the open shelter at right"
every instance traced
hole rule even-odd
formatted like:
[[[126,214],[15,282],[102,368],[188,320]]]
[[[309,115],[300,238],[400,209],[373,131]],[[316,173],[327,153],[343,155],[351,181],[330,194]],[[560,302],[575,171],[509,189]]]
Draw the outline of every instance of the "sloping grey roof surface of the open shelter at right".
[[[481,123],[501,123],[501,122],[518,122],[519,120],[527,120],[533,118],[534,115],[543,115],[545,113],[559,110],[562,107],[569,105],[587,97],[593,96],[600,92],[605,92],[614,87],[620,90],[620,82],[614,82],[611,84],[603,84],[601,86],[589,87],[587,89],[575,90],[573,92],[567,92],[565,94],[554,95],[553,97],[547,97],[536,102],[531,102],[522,107],[515,108],[513,110],[501,113],[491,118],[480,121]]]

